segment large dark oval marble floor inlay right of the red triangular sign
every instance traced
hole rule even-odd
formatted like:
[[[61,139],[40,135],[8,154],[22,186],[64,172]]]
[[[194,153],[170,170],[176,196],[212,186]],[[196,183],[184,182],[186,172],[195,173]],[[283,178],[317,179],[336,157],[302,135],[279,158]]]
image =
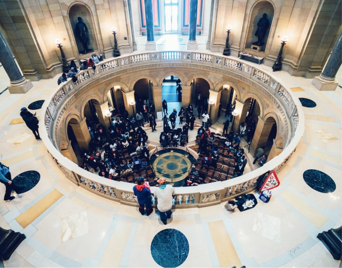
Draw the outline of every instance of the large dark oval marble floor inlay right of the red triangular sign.
[[[316,169],[308,169],[303,173],[303,179],[312,189],[321,193],[332,193],[336,184],[330,176]]]

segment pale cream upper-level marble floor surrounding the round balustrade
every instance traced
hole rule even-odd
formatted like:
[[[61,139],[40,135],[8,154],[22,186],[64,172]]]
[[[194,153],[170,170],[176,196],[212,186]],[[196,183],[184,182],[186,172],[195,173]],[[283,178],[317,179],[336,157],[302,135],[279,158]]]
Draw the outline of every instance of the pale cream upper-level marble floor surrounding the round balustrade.
[[[160,267],[161,262],[156,261],[160,252],[155,250],[162,237],[156,234],[166,229],[180,233],[180,240],[164,251],[177,251],[177,241],[188,245],[184,258],[173,266],[341,267],[341,261],[334,260],[316,236],[342,225],[342,89],[318,91],[311,79],[261,68],[277,76],[294,96],[317,104],[303,107],[306,130],[278,174],[280,186],[272,190],[268,203],[259,201],[251,210],[232,213],[223,203],[177,209],[164,225],[155,212],[142,216],[135,207],[93,195],[71,183],[43,143],[19,120],[20,107],[47,98],[56,89],[58,76],[33,82],[33,89],[26,94],[10,94],[3,91],[9,83],[0,67],[1,161],[10,166],[13,178],[29,170],[40,174],[33,189],[14,193],[12,201],[0,198],[0,226],[26,235],[0,267]],[[36,111],[43,117],[40,109]],[[213,129],[222,128],[220,121]],[[147,128],[147,132],[159,136],[160,127],[154,133]],[[303,178],[308,169],[327,174],[336,189],[321,193],[311,188]],[[1,197],[4,192],[1,184]],[[51,198],[54,202],[49,203]],[[33,217],[37,207],[40,213]]]

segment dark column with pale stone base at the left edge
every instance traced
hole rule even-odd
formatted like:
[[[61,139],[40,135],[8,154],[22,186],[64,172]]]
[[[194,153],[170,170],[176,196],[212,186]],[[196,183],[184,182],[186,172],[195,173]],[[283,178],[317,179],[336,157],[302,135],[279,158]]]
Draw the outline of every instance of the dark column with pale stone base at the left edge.
[[[26,93],[33,85],[30,80],[26,80],[13,58],[13,53],[7,43],[5,36],[0,31],[0,62],[10,78],[10,85],[7,87],[10,93]]]

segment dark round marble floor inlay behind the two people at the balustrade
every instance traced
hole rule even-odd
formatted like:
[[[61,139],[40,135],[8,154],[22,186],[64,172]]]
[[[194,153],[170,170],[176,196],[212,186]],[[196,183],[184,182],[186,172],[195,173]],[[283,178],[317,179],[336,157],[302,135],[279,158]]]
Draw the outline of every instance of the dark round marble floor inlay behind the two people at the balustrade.
[[[178,267],[188,258],[189,243],[182,232],[164,229],[158,232],[151,243],[151,254],[161,267]]]

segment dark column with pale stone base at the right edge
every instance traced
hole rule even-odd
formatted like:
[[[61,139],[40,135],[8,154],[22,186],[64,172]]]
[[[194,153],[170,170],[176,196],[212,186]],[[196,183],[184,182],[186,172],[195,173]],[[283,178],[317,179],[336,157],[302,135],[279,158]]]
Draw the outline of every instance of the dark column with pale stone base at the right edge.
[[[312,85],[318,90],[335,90],[339,83],[336,83],[336,73],[342,64],[342,34],[337,39],[331,55],[320,76],[312,80]]]

